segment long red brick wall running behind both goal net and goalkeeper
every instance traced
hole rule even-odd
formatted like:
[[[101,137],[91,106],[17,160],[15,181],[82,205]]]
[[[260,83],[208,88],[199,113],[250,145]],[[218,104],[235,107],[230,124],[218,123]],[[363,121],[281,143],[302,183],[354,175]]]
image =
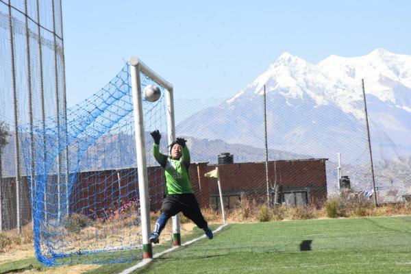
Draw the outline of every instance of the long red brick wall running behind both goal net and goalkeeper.
[[[201,207],[210,206],[210,195],[218,194],[216,178],[204,173],[219,167],[223,195],[244,192],[251,199],[266,201],[265,163],[191,164],[189,173],[192,187]],[[119,173],[119,175],[118,175]],[[149,199],[151,210],[160,210],[164,176],[160,166],[150,167]],[[282,186],[282,190],[308,190],[309,201],[322,201],[327,197],[325,159],[271,161],[269,182]],[[71,211],[98,217],[116,210],[138,196],[137,169],[119,171],[89,171],[79,173],[71,195]],[[92,205],[91,207],[89,205]]]

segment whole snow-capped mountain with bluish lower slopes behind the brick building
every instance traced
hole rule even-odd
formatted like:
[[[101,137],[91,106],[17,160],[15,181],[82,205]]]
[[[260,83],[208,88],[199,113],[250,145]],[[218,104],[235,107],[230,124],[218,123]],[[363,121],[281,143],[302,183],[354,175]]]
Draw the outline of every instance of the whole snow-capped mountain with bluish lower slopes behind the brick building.
[[[271,149],[366,160],[362,79],[375,157],[411,155],[411,56],[384,49],[331,55],[319,64],[284,53],[232,99],[188,117],[177,132],[263,147],[265,85]]]

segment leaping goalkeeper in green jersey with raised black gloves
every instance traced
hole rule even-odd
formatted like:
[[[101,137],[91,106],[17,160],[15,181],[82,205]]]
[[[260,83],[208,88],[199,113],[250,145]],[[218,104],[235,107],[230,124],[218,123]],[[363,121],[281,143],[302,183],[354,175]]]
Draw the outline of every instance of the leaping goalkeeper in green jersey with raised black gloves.
[[[166,226],[167,221],[175,214],[182,212],[184,216],[203,229],[207,238],[212,239],[212,231],[197,203],[192,192],[191,182],[188,178],[188,166],[190,166],[190,153],[186,147],[184,138],[177,138],[170,146],[171,156],[160,153],[161,134],[158,130],[151,132],[153,137],[153,154],[155,160],[164,169],[166,186],[161,214],[155,222],[155,228],[150,236],[150,242],[157,244],[158,236]]]

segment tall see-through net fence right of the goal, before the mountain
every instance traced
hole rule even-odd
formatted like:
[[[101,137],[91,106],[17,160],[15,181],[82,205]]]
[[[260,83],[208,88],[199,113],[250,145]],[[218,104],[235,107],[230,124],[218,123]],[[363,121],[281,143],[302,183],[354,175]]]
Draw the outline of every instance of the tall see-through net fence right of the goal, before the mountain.
[[[373,97],[366,95],[374,193],[361,83],[337,95],[324,92],[321,100],[291,93],[267,84],[265,111],[264,86],[214,99],[212,106],[206,106],[210,99],[176,101],[177,135],[189,140],[192,161],[200,163],[193,173],[201,203],[220,206],[216,179],[203,177],[216,166],[226,209],[240,206],[245,197],[271,205],[321,207],[342,192],[343,199],[369,203],[374,195],[378,203],[404,201],[411,186],[406,149],[411,136],[404,132],[405,141],[395,143],[382,128]],[[338,105],[336,96],[350,103]]]

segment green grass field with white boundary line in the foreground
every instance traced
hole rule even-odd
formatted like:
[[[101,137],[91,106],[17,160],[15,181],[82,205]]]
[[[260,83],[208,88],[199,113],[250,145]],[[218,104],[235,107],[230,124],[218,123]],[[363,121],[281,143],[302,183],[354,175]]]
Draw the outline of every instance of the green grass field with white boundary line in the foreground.
[[[411,273],[411,216],[232,224],[134,273]]]

